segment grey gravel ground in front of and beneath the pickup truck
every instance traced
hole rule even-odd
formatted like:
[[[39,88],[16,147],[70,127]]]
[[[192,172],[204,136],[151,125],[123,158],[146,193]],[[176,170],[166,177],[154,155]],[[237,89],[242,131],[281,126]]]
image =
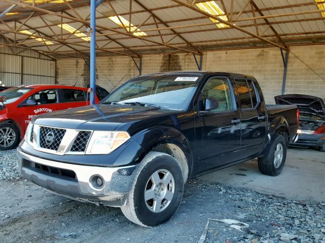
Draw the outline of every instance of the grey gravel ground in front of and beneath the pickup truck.
[[[158,227],[143,228],[118,208],[68,200],[13,179],[19,177],[15,151],[0,156],[0,176],[5,179],[0,181],[1,242],[199,242],[203,234],[201,242],[209,243],[325,243],[325,202],[191,180],[176,215]],[[209,220],[206,227],[208,219],[247,225]]]

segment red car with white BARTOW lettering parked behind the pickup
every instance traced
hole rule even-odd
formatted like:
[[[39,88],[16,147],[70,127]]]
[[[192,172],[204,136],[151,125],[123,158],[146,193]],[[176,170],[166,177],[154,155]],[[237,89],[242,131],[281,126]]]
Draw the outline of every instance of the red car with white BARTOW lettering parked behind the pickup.
[[[0,92],[0,150],[17,146],[35,115],[89,105],[89,99],[86,88],[61,85],[20,86]]]

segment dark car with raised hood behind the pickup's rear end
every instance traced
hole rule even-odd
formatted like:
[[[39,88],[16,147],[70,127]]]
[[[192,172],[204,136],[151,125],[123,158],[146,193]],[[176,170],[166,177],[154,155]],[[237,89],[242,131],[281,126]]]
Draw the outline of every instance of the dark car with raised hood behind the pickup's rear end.
[[[297,105],[300,121],[297,135],[291,146],[316,147],[325,152],[325,104],[321,98],[310,95],[279,95],[277,104]]]

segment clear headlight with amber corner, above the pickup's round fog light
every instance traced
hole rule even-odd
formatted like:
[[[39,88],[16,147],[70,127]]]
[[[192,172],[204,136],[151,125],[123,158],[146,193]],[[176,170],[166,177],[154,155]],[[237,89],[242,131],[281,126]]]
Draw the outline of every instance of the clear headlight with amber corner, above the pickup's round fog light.
[[[107,154],[130,138],[127,132],[94,131],[88,143],[86,154]]]

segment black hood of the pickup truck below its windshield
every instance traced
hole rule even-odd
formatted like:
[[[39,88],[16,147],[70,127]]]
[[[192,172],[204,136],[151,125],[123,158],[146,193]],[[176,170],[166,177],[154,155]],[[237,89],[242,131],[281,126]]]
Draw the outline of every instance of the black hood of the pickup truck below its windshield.
[[[166,120],[162,116],[179,112],[155,107],[101,104],[45,113],[36,116],[32,123],[78,130],[114,131],[119,127],[120,131],[128,131],[132,124],[146,123],[140,126],[144,129],[151,123],[157,123],[158,117],[160,121]]]

